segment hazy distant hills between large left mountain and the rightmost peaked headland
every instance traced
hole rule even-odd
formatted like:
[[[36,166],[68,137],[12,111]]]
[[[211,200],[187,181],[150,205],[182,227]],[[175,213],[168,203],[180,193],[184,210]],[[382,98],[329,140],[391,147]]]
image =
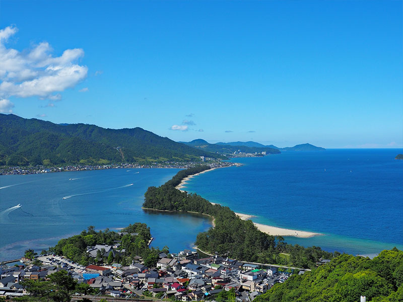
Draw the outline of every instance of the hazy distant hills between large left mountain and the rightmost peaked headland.
[[[194,139],[188,142],[182,142],[187,144],[188,146],[192,146],[197,149],[206,150],[208,152],[214,152],[217,154],[233,154],[234,152],[245,152],[245,153],[261,153],[266,152],[267,154],[278,154],[280,151],[276,148],[271,147],[250,147],[250,146],[243,146],[243,145],[229,145],[229,144],[216,144],[216,143],[209,143],[204,139]]]

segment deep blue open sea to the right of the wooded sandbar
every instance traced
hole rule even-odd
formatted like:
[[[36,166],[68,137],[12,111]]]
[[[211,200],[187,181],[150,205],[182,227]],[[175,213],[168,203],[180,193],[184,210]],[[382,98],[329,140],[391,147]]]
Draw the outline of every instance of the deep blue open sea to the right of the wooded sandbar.
[[[255,215],[255,222],[325,234],[291,244],[352,254],[403,249],[401,149],[327,149],[239,158],[184,190]]]

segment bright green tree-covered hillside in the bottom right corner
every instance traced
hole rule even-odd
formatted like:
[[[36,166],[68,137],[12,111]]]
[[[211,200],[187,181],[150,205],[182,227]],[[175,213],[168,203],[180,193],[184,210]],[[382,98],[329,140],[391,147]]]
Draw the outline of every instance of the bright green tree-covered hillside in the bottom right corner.
[[[343,254],[311,272],[294,274],[255,302],[403,301],[403,252],[393,248],[374,259]]]

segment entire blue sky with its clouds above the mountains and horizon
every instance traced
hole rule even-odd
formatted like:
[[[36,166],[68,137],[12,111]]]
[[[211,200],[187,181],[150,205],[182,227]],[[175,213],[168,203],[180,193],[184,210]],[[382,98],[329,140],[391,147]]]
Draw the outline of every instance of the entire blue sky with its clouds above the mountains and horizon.
[[[5,113],[403,147],[401,1],[0,0],[0,29]]]

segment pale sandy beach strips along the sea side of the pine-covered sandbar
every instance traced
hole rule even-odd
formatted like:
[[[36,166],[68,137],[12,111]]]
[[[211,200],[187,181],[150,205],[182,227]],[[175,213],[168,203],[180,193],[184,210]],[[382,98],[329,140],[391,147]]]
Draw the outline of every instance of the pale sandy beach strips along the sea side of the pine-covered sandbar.
[[[219,168],[226,168],[226,167],[217,167],[217,168],[212,168],[209,170],[205,170],[202,171],[200,173],[197,174],[193,174],[190,175],[188,177],[185,177],[184,179],[182,179],[182,181],[180,182],[179,185],[176,186],[176,189],[184,192],[184,190],[182,190],[186,183],[193,178],[196,175],[202,174],[202,173],[206,173],[215,169],[219,169]],[[212,204],[215,204],[214,202],[211,202]],[[252,217],[255,217],[253,215],[248,215],[248,214],[242,214],[242,213],[235,213],[239,216],[239,218],[241,218],[242,220],[247,220],[250,219]],[[272,236],[293,236],[293,237],[299,237],[299,238],[310,238],[313,236],[319,236],[319,235],[323,235],[320,233],[314,233],[314,232],[307,232],[307,231],[299,231],[299,230],[291,230],[291,229],[284,229],[284,228],[278,228],[277,226],[273,226],[273,225],[266,225],[266,224],[261,224],[261,223],[256,223],[253,222],[253,224],[256,226],[256,228],[263,232],[266,233],[268,235],[272,235]],[[214,226],[214,225],[213,225]]]

